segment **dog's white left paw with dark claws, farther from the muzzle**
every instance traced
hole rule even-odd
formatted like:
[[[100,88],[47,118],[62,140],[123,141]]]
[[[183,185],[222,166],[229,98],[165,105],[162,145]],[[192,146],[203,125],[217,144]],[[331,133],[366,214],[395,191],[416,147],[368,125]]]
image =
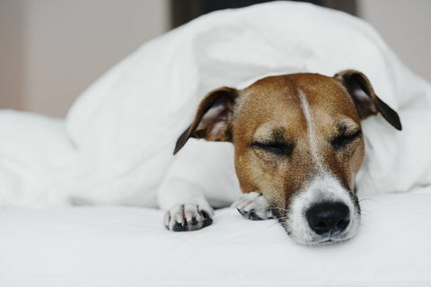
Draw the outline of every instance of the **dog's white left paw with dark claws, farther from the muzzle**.
[[[213,223],[212,209],[200,208],[198,204],[180,204],[164,214],[164,226],[172,231],[200,230]]]

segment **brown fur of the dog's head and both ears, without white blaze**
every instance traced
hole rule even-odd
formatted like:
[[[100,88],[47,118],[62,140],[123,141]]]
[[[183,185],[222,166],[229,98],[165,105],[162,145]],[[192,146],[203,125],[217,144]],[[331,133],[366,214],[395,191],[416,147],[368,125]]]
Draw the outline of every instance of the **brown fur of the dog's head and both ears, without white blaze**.
[[[321,74],[271,76],[242,91],[216,90],[220,91],[224,92],[224,99],[229,103],[222,110],[224,116],[228,114],[228,117],[223,117],[225,129],[222,134],[218,136],[209,131],[207,135],[197,135],[195,129],[202,126],[201,119],[211,106],[203,100],[194,122],[181,135],[176,152],[191,136],[232,142],[235,170],[242,192],[262,192],[269,203],[279,208],[286,208],[307,178],[318,171],[310,150],[300,92],[310,106],[321,165],[352,193],[355,174],[365,155],[364,138],[361,133],[342,150],[334,148],[334,138],[343,130],[345,133],[358,130],[361,119],[377,112],[384,114],[392,126],[400,129],[398,115],[377,98],[364,74],[352,70],[334,77]],[[226,92],[233,94],[229,98]],[[206,99],[214,102],[211,95]],[[216,117],[208,116],[206,123],[213,120],[219,124],[220,119]],[[202,128],[205,130],[206,126],[214,125],[206,124]],[[254,142],[273,141],[273,138],[288,143],[292,152],[280,155],[253,147]]]

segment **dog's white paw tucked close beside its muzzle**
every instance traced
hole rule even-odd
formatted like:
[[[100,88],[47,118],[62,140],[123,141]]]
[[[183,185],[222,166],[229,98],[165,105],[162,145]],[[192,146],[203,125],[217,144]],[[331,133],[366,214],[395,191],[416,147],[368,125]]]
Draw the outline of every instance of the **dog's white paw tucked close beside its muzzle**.
[[[275,218],[267,199],[261,193],[252,191],[243,194],[232,205],[239,213],[252,221],[263,221]]]

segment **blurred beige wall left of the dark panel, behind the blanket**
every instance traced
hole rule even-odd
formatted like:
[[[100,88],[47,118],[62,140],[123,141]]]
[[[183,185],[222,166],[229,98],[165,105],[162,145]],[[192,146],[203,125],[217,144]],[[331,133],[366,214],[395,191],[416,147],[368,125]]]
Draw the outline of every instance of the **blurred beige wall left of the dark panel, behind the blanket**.
[[[0,108],[65,116],[168,15],[167,0],[0,0]]]

